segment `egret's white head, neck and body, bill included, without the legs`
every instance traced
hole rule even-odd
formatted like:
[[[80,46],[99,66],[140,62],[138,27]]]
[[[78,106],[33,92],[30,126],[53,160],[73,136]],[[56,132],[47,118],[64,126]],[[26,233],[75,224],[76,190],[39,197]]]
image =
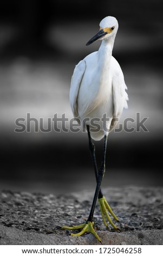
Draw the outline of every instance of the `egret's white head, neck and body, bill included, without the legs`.
[[[99,51],[86,56],[76,65],[71,79],[70,106],[74,117],[90,126],[93,139],[99,141],[104,135],[113,130],[122,114],[123,107],[127,108],[128,95],[122,70],[112,56],[114,39],[118,31],[118,21],[105,17],[100,22],[100,31],[87,44],[102,40]],[[104,129],[103,115],[106,114],[107,130]],[[100,126],[93,126],[90,120],[96,118]],[[114,121],[115,120],[115,121]],[[92,130],[94,129],[94,130]]]

